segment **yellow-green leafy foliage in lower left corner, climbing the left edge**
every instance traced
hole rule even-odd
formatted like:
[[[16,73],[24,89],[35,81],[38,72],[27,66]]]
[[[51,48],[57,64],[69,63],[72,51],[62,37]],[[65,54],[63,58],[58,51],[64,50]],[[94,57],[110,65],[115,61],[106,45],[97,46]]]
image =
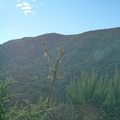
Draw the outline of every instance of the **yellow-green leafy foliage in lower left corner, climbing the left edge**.
[[[48,107],[42,97],[37,104],[24,100],[22,104],[16,101],[14,105],[9,105],[13,95],[8,94],[8,87],[13,82],[12,78],[4,83],[0,81],[0,120],[45,120],[53,108]]]

